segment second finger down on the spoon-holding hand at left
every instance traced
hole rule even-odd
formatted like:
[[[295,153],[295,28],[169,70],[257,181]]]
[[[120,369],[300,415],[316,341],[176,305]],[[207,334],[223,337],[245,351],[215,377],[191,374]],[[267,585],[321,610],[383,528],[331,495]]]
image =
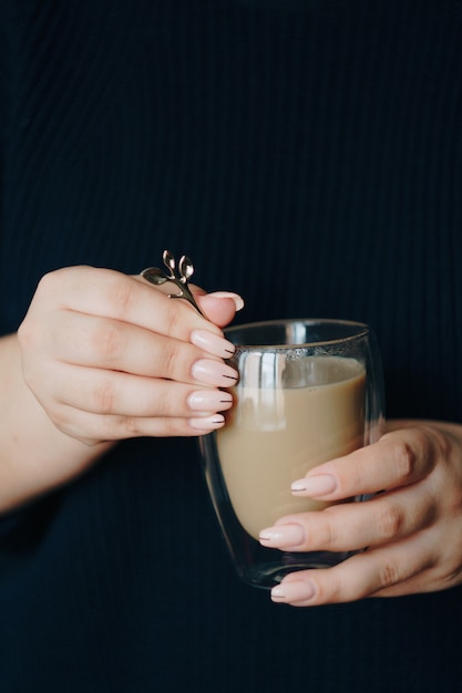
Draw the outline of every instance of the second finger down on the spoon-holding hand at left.
[[[48,353],[74,365],[217,387],[237,379],[234,369],[194,344],[117,320],[62,311],[48,341]]]

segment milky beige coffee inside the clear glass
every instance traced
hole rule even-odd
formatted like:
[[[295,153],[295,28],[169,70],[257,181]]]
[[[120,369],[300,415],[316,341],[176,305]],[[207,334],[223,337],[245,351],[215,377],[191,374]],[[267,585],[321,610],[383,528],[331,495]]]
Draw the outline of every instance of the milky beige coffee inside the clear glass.
[[[365,370],[353,359],[322,359],[327,384],[239,385],[236,405],[217,433],[230,501],[243,527],[256,539],[283,515],[325,507],[309,498],[295,498],[291,482],[363,444]]]

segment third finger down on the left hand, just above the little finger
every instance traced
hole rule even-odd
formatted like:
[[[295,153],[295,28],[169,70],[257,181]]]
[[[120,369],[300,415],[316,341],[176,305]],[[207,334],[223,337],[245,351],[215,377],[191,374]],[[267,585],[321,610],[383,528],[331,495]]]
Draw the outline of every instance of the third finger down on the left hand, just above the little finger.
[[[157,377],[57,364],[51,396],[63,405],[94,414],[140,417],[195,417],[233,405],[230,393],[195,389]]]

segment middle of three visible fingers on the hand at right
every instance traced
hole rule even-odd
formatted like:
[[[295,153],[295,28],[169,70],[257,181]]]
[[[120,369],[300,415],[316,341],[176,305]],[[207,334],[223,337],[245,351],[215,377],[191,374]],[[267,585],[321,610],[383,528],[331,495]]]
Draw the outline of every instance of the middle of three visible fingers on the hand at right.
[[[286,516],[260,532],[260,544],[289,551],[359,550],[420,531],[437,513],[430,489],[403,488],[365,503]]]

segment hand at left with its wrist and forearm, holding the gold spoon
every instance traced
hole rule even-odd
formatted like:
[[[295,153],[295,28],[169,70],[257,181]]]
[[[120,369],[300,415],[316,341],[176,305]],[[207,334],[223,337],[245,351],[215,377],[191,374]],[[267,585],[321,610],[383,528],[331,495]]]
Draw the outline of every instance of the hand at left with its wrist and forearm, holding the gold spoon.
[[[141,277],[90,267],[40,282],[18,334],[0,338],[0,513],[65,484],[116,441],[223,425],[236,373],[217,325],[233,293],[171,300]]]

